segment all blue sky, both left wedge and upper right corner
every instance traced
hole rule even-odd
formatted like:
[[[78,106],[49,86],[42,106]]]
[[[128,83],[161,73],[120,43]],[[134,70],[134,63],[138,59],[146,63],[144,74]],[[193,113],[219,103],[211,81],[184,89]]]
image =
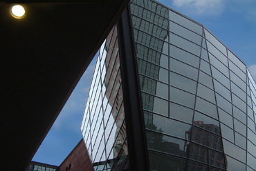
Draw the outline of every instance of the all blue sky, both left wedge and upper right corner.
[[[246,63],[256,80],[255,0],[161,0],[165,6],[202,23]],[[60,165],[82,139],[80,123],[95,58],[48,132],[33,161]]]

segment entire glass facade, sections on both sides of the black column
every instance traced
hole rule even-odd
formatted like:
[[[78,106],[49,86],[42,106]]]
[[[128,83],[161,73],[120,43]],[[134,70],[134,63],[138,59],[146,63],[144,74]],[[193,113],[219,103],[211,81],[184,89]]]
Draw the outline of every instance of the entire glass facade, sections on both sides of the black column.
[[[255,170],[256,85],[245,63],[161,3],[134,0],[130,12],[150,170]],[[113,43],[115,30],[99,51],[81,125],[95,170],[117,159],[129,168],[118,64],[125,47]]]

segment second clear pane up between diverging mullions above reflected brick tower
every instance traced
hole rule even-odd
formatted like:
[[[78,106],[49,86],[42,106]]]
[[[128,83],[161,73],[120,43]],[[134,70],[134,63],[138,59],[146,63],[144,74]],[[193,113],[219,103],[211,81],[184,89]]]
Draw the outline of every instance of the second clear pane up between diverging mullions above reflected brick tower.
[[[207,101],[215,103],[214,92],[212,90],[210,90],[209,88],[201,85],[200,83],[197,86],[197,94],[196,95],[207,100]]]

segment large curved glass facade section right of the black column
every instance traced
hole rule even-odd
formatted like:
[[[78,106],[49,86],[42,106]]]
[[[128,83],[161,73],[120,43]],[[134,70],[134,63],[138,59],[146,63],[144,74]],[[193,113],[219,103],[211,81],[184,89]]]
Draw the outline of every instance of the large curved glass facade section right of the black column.
[[[256,85],[203,25],[130,3],[151,170],[255,170]]]

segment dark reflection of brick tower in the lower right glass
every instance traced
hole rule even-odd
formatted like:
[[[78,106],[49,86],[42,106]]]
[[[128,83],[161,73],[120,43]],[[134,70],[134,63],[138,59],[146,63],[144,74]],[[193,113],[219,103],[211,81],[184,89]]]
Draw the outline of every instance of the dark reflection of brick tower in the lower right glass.
[[[188,161],[188,170],[207,170],[205,163],[224,168],[223,144],[219,135],[218,125],[194,121],[194,126],[185,132],[184,151],[196,161]]]

